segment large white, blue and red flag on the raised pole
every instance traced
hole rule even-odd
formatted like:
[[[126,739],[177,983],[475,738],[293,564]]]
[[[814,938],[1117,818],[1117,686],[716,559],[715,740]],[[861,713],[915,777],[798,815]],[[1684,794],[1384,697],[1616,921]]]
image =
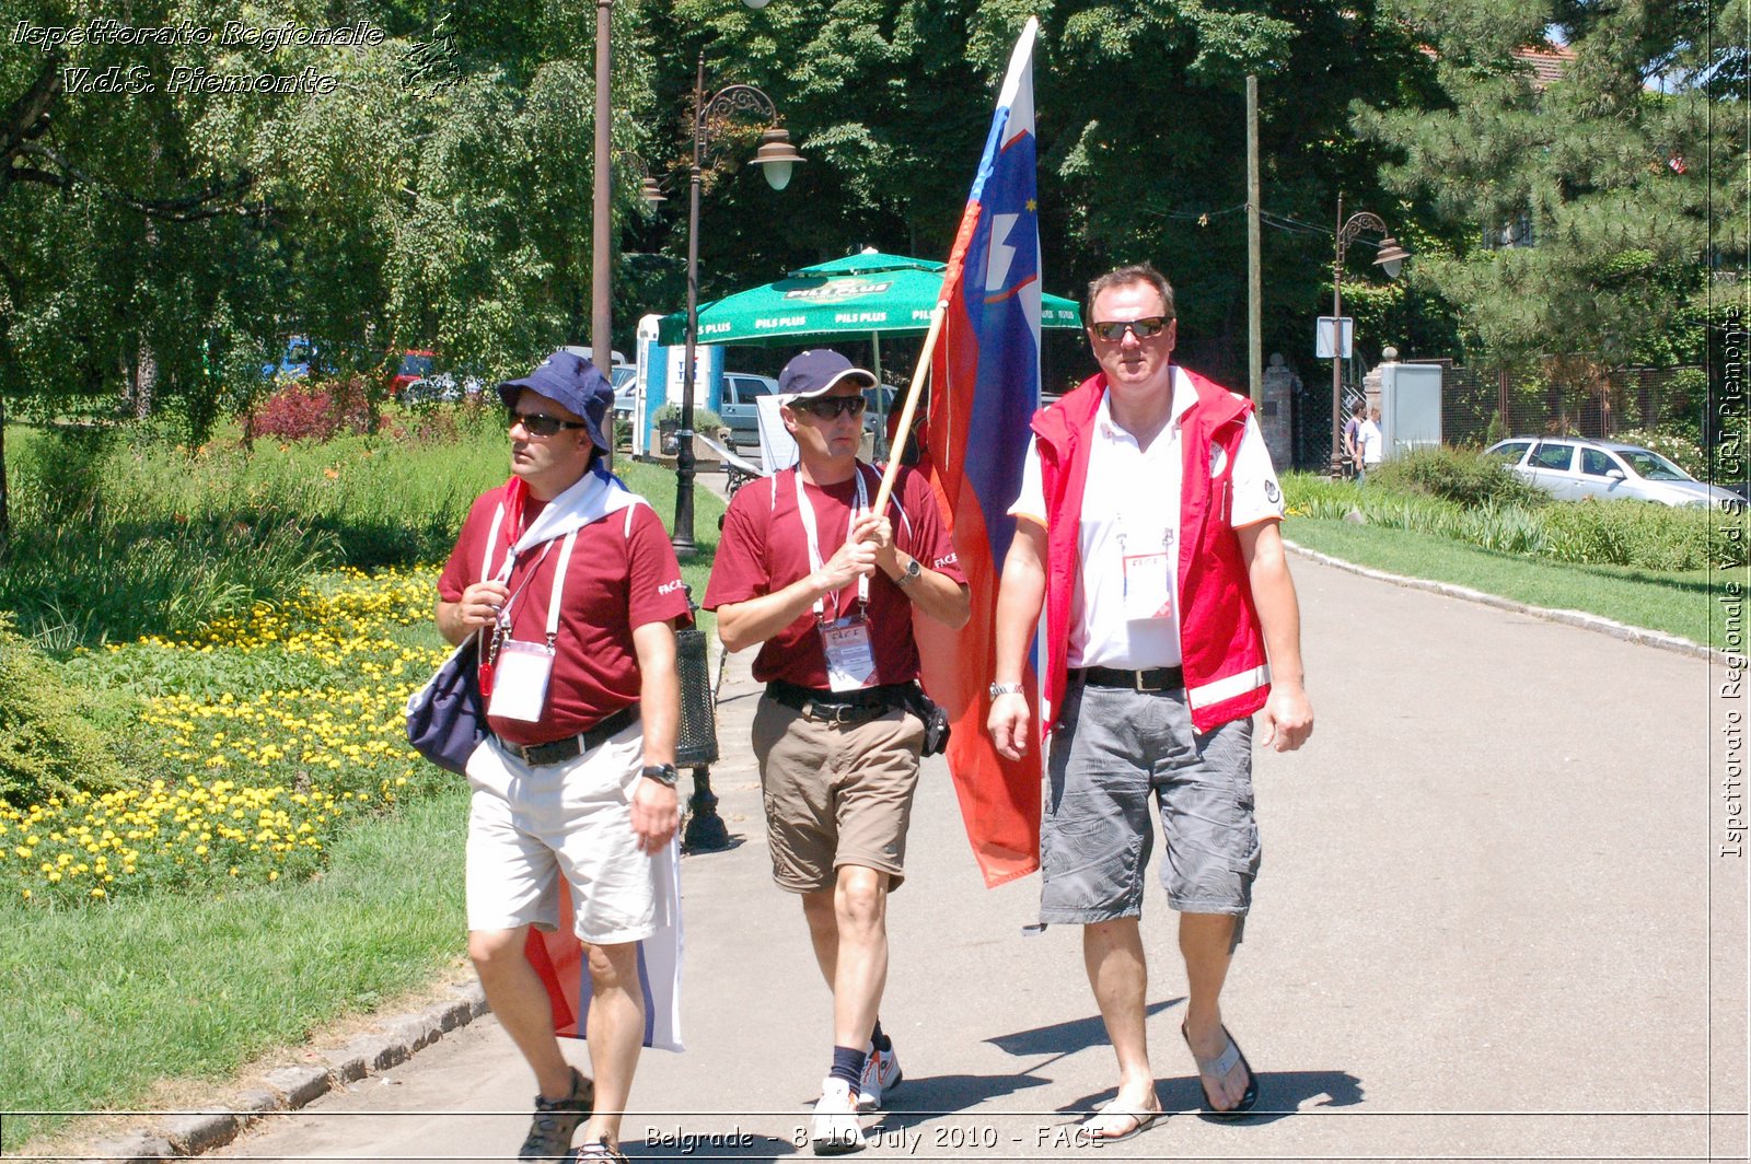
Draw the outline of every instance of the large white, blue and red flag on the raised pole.
[[[925,686],[947,711],[949,772],[986,886],[1040,866],[1040,749],[991,747],[986,686],[996,663],[996,592],[1014,534],[1028,420],[1040,404],[1040,228],[1035,198],[1033,39],[1028,18],[942,277],[947,312],[932,359],[925,446],[972,590],[960,634],[919,634]],[[1028,700],[1035,679],[1028,676]]]

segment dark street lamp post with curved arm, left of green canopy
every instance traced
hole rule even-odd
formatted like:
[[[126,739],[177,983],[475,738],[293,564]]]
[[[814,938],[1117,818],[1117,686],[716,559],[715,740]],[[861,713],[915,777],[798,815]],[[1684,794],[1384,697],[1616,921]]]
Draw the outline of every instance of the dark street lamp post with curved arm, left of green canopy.
[[[802,154],[790,144],[790,133],[777,124],[777,107],[751,84],[732,84],[706,93],[706,54],[699,54],[693,82],[693,168],[686,207],[686,355],[681,368],[681,427],[676,431],[674,544],[676,557],[692,557],[693,544],[693,348],[699,343],[699,191],[711,151],[711,123],[735,114],[760,114],[767,121],[753,163],[765,172],[767,184],[781,191],[790,184],[791,168]]]

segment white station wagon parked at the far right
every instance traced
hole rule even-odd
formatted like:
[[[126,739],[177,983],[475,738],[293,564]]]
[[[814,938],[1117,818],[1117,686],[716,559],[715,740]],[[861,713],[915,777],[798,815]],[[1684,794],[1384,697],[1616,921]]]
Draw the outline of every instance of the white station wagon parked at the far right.
[[[1516,436],[1483,452],[1506,460],[1520,480],[1564,501],[1602,497],[1721,509],[1746,504],[1739,494],[1698,481],[1660,453],[1635,445]]]

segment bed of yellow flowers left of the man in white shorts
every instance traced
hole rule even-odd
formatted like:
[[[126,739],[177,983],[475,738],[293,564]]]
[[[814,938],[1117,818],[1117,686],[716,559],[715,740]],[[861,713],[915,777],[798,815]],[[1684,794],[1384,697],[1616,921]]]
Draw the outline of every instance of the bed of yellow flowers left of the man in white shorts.
[[[144,887],[310,875],[347,819],[450,777],[406,744],[408,693],[445,649],[394,632],[429,625],[434,571],[347,571],[326,593],[257,607],[198,637],[149,637],[112,651],[172,651],[191,665],[217,648],[312,656],[322,686],[245,698],[149,698],[140,730],[173,777],[110,793],[0,803],[0,891],[26,901],[89,901]],[[404,635],[403,635],[404,637]]]

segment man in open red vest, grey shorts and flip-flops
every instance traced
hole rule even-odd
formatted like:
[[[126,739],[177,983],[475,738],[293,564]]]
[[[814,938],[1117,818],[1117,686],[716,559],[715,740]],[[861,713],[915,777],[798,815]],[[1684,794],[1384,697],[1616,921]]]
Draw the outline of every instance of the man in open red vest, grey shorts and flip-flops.
[[[1040,828],[1040,921],[1082,924],[1119,1089],[1087,1122],[1101,1143],[1161,1118],[1138,933],[1161,814],[1161,880],[1180,912],[1180,1026],[1205,1103],[1257,1103],[1219,996],[1259,868],[1252,714],[1266,746],[1313,730],[1282,490],[1247,397],[1171,362],[1173,289],[1124,266],[1089,285],[1100,375],[1033,418],[1016,539],[998,595],[988,726],[1016,758],[1033,737],[1021,676],[1045,607],[1040,723],[1056,730]]]

